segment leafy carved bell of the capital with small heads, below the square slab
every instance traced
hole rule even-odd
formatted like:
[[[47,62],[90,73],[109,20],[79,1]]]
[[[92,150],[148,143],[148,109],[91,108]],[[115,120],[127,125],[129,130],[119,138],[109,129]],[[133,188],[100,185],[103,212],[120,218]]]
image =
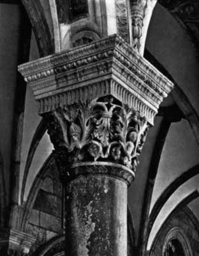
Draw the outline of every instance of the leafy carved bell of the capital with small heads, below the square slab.
[[[104,97],[58,108],[46,118],[60,166],[110,161],[135,172],[149,129],[138,111]]]

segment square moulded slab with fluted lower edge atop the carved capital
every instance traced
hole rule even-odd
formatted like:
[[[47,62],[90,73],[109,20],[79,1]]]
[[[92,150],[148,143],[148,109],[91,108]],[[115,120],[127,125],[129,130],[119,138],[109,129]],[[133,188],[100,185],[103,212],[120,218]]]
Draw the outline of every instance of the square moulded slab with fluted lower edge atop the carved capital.
[[[173,87],[120,36],[20,65],[39,103],[39,113],[105,95],[139,111],[150,124]]]

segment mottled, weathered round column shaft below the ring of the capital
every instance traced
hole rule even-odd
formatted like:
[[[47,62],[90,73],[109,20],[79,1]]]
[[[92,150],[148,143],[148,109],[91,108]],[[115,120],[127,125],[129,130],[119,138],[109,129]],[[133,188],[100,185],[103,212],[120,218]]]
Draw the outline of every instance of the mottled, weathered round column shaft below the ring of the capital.
[[[127,255],[127,185],[89,175],[66,187],[66,251],[71,256]]]

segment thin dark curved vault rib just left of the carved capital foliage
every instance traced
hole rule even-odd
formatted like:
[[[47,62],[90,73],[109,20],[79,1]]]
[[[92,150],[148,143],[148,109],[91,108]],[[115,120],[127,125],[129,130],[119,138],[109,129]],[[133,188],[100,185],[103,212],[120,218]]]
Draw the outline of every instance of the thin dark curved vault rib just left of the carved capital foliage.
[[[33,139],[31,141],[31,145],[29,147],[29,151],[27,154],[27,159],[26,159],[26,166],[24,168],[24,177],[22,180],[22,190],[21,190],[21,195],[20,195],[20,202],[22,203],[24,200],[24,193],[25,193],[25,188],[26,188],[26,181],[27,181],[27,175],[29,173],[29,168],[31,166],[31,163],[33,161],[34,154],[36,152],[36,148],[38,147],[41,139],[43,138],[43,135],[47,131],[47,124],[45,120],[42,118],[40,121],[40,124],[36,128],[36,131],[34,132]]]

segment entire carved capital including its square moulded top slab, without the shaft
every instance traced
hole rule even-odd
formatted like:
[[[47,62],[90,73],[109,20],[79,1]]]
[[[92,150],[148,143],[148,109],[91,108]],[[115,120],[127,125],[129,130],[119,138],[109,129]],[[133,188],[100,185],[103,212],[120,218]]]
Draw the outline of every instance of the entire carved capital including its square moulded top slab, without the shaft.
[[[135,172],[149,125],[173,84],[114,35],[21,65],[61,172],[85,163]]]

